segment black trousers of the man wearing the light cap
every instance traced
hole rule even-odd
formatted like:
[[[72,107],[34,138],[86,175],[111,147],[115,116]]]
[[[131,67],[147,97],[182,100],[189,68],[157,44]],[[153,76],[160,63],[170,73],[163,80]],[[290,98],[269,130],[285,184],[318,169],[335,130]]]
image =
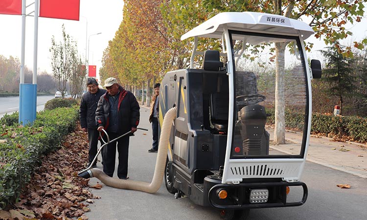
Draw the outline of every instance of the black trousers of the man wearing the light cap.
[[[110,141],[118,137],[118,133],[108,132]],[[116,145],[118,151],[118,178],[127,177],[128,158],[129,158],[129,136],[121,137],[120,139],[108,144],[103,148],[103,172],[108,176],[113,177],[115,172]]]

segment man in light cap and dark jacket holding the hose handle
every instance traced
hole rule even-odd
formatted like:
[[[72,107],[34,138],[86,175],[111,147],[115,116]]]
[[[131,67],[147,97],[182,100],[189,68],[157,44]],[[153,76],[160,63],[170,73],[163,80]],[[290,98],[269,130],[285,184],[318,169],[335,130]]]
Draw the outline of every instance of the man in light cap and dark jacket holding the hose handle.
[[[95,111],[95,121],[98,131],[106,130],[110,140],[122,134],[137,131],[140,117],[140,107],[134,94],[117,84],[117,80],[110,77],[105,80],[107,92],[101,96]],[[118,167],[117,176],[127,179],[129,136],[117,140]],[[103,149],[103,172],[113,176],[115,171],[116,142],[108,144]]]

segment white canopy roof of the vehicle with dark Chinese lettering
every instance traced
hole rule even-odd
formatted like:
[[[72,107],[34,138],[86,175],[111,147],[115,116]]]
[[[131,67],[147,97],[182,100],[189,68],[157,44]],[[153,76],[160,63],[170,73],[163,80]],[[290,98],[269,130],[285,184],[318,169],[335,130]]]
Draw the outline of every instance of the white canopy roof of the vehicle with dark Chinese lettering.
[[[181,36],[181,40],[195,36],[220,39],[225,24],[230,30],[300,35],[303,40],[314,34],[307,23],[281,15],[259,12],[223,12],[186,32]]]

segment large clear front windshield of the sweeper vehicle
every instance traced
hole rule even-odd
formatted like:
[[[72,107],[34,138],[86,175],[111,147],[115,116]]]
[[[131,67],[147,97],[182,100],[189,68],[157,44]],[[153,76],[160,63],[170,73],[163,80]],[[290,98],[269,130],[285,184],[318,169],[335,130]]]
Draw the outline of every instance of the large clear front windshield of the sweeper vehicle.
[[[231,158],[302,158],[308,84],[299,38],[239,31],[230,37],[236,96]]]

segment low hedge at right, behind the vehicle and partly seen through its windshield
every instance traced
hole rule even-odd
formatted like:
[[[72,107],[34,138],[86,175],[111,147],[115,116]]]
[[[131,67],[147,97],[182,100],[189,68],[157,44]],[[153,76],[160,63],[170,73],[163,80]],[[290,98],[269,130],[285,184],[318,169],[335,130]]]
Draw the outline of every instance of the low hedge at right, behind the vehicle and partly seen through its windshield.
[[[275,110],[269,108],[266,112],[269,114],[267,123],[275,124]],[[295,131],[301,131],[303,129],[303,114],[286,109],[285,116],[287,118],[285,125],[287,129]],[[312,114],[311,132],[366,143],[367,118],[315,113]]]

